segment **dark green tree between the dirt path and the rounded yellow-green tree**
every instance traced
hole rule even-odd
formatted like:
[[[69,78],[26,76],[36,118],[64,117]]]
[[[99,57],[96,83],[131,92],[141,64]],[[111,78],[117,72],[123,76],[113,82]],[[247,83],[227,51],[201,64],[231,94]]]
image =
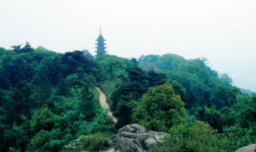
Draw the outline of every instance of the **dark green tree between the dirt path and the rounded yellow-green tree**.
[[[130,124],[133,101],[138,101],[149,88],[146,71],[133,67],[126,72],[128,77],[124,75],[118,77],[122,79],[122,83],[116,86],[117,89],[111,95],[112,109],[116,111],[114,115],[118,117],[116,129]]]

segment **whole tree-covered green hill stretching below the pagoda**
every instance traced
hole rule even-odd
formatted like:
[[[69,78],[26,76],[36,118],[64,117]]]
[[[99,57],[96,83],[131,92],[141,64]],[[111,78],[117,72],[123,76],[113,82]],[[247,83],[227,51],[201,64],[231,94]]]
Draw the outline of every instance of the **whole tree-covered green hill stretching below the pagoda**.
[[[232,151],[256,142],[256,96],[201,58],[58,54],[29,43],[0,48],[0,151],[70,151],[66,145],[82,135],[72,150],[100,150],[130,123],[170,133],[152,151]]]

